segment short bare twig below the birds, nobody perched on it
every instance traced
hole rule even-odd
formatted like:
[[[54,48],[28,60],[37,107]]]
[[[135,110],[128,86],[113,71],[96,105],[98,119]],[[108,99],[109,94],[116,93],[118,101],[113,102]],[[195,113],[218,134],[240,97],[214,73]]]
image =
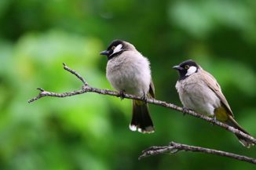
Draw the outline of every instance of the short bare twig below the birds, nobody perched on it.
[[[191,152],[200,152],[200,153],[206,153],[206,154],[215,154],[222,157],[230,157],[236,160],[247,161],[251,164],[256,164],[256,159],[252,157],[246,157],[243,155],[232,154],[232,153],[224,152],[221,150],[212,150],[209,148],[204,148],[199,146],[189,146],[189,145],[174,143],[174,142],[171,142],[169,146],[151,146],[147,150],[143,150],[141,156],[139,157],[139,160],[141,158],[149,157],[156,154],[164,154],[164,153],[175,154],[181,150],[191,151]]]

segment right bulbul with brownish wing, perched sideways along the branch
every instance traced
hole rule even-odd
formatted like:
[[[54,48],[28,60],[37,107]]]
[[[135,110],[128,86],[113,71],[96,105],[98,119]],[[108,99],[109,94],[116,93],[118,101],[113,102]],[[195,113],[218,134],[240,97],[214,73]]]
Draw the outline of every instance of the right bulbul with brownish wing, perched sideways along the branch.
[[[173,68],[180,75],[175,87],[185,109],[206,114],[250,135],[235,121],[229,103],[221,92],[221,86],[210,73],[193,60],[186,60]],[[243,146],[249,148],[254,145],[243,136],[236,137]]]

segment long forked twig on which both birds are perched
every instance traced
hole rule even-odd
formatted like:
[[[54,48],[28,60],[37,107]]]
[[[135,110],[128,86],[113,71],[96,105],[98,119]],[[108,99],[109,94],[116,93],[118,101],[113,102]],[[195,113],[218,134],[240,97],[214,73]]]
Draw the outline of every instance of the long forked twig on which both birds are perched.
[[[97,89],[97,88],[90,87],[88,85],[88,83],[86,82],[86,80],[84,78],[82,78],[82,76],[80,74],[78,74],[76,71],[73,71],[65,63],[63,63],[63,65],[64,65],[64,70],[70,72],[71,74],[74,74],[77,78],[79,78],[80,81],[82,81],[82,84],[83,84],[82,89],[75,90],[75,91],[72,91],[72,92],[57,93],[57,92],[48,92],[48,91],[46,91],[42,88],[38,88],[38,90],[40,91],[38,96],[35,96],[33,99],[28,100],[28,103],[32,103],[35,100],[38,100],[38,99],[40,99],[42,97],[45,97],[45,96],[68,97],[68,96],[79,95],[79,94],[86,93],[86,92],[96,92],[98,94],[108,95],[108,96],[117,96],[117,97],[120,96],[119,92],[115,92],[115,91],[108,90],[108,89]],[[144,99],[142,99],[141,96],[133,96],[133,95],[126,94],[126,93],[123,94],[123,98],[137,99],[137,100],[144,101]],[[161,101],[161,100],[149,99],[149,98],[146,99],[146,100],[147,100],[147,103],[152,103],[152,104],[159,105],[159,106],[162,106],[162,107],[177,110],[177,111],[179,111],[183,114],[184,113],[189,114],[189,115],[192,115],[193,117],[201,118],[205,121],[209,121],[214,125],[218,125],[221,128],[227,129],[229,132],[232,132],[232,133],[235,133],[237,135],[243,136],[244,138],[249,139],[252,143],[256,144],[256,139],[254,139],[252,136],[249,136],[249,135],[245,134],[244,132],[241,132],[240,130],[238,130],[236,128],[233,128],[232,126],[226,125],[225,123],[221,123],[220,121],[214,120],[214,118],[209,118],[209,117],[207,117],[203,114],[197,114],[196,112],[194,112],[192,110],[184,110],[182,107],[177,107],[176,105],[174,105],[172,103],[166,103],[166,102]]]

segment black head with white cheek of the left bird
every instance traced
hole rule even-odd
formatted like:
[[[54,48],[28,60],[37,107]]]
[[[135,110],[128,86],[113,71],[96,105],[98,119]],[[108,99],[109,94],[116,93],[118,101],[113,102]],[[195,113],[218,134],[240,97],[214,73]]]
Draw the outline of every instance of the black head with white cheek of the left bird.
[[[115,56],[119,56],[122,52],[131,49],[133,45],[123,40],[114,40],[108,49],[101,52],[101,55],[108,56],[108,60],[111,60]]]

